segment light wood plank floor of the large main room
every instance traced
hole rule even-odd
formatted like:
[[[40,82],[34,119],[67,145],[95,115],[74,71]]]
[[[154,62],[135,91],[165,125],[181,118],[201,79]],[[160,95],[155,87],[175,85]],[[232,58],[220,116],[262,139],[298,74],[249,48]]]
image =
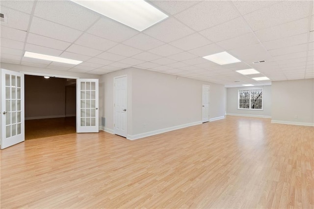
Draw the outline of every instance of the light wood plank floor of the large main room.
[[[314,127],[228,116],[135,141],[106,132],[1,150],[6,208],[314,208]]]

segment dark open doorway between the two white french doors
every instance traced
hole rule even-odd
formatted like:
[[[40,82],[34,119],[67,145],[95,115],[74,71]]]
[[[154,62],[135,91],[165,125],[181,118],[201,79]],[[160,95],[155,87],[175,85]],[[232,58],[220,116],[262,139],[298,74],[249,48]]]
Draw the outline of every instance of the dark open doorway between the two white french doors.
[[[76,132],[76,79],[25,75],[25,139]]]

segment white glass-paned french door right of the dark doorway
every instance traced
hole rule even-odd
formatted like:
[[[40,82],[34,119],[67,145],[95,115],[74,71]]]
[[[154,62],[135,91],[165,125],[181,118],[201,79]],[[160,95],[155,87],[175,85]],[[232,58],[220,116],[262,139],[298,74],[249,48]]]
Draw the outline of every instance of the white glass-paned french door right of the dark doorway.
[[[98,79],[77,79],[77,132],[99,132]]]

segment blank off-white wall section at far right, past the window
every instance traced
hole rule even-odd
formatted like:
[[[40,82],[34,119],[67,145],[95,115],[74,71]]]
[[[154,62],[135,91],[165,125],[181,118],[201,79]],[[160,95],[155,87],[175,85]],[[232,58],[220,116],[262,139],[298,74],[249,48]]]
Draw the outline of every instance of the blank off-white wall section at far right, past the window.
[[[271,108],[273,123],[314,126],[314,79],[272,82]]]

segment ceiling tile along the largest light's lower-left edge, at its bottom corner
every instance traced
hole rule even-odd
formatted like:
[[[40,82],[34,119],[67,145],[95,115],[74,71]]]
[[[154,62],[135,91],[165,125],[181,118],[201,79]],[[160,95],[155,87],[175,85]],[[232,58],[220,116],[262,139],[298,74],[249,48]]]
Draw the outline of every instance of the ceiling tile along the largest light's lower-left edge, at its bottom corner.
[[[106,17],[97,21],[87,32],[115,42],[125,41],[138,33],[137,30]]]

